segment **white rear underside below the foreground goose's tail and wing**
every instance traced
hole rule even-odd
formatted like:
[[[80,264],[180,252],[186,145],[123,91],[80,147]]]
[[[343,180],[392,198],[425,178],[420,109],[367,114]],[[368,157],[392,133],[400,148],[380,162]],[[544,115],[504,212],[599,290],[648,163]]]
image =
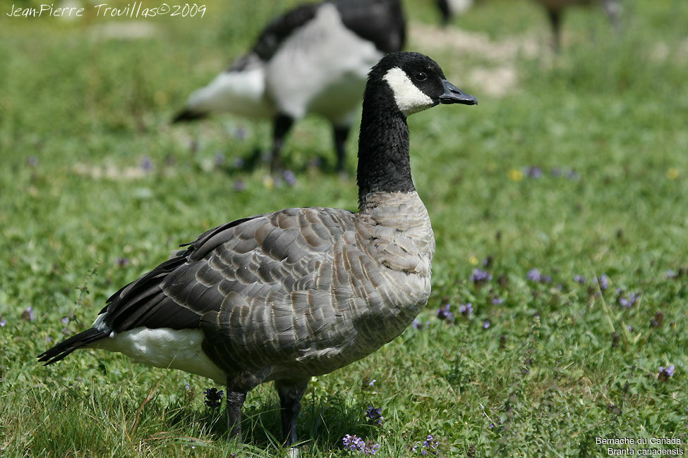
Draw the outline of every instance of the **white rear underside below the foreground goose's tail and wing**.
[[[224,384],[227,376],[203,351],[203,339],[200,329],[140,327],[113,333],[98,340],[92,347],[125,354],[138,363],[163,369],[181,369]]]

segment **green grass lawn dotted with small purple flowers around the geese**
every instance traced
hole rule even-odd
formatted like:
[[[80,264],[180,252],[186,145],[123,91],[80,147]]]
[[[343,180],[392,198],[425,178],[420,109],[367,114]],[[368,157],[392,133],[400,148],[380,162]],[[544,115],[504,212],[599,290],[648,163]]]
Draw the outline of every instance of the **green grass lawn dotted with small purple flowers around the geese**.
[[[406,11],[433,23],[431,3],[407,1]],[[330,132],[318,118],[298,123],[286,144],[293,187],[271,187],[265,166],[232,165],[267,148],[267,123],[168,124],[276,9],[213,1],[203,19],[139,20],[152,29],[139,39],[97,38],[107,21],[92,16],[1,19],[2,456],[284,454],[270,385],[249,395],[246,445],[237,445],[222,412],[203,406],[208,380],[105,352],[49,368],[35,361],[47,339],[87,328],[112,292],[213,225],[295,205],[356,208],[355,180],[330,173]],[[665,448],[685,450],[687,22],[684,1],[630,0],[615,35],[600,11],[581,8],[565,19],[554,57],[544,15],[527,1],[486,1],[454,20],[494,40],[535,37],[541,49],[508,62],[517,83],[500,98],[469,75],[502,62],[431,53],[480,104],[409,119],[414,179],[437,240],[433,295],[419,317],[429,325],[313,380],[302,456],[347,456],[347,433],[379,442],[383,457],[410,456],[428,434],[445,457],[471,447],[476,456],[605,455],[598,436],[680,438]],[[355,148],[352,136],[351,172]],[[324,168],[309,165],[318,156]],[[531,178],[529,167],[543,174]],[[234,190],[237,180],[245,190]],[[493,279],[473,285],[488,256]],[[528,280],[531,268],[551,282]],[[669,269],[680,275],[667,278]],[[605,291],[594,281],[602,274]],[[617,288],[639,299],[624,308]],[[466,302],[468,317],[458,313]],[[435,315],[447,303],[454,326]],[[22,318],[29,306],[32,321]],[[668,364],[675,374],[660,380]],[[382,408],[382,427],[366,422],[369,405]]]

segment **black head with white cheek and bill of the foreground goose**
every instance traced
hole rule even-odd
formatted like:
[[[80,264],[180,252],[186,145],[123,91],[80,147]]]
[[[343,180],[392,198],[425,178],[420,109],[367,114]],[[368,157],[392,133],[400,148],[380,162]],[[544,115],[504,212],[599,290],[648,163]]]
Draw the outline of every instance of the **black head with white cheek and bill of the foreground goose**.
[[[368,85],[386,83],[399,111],[409,116],[437,104],[476,105],[478,100],[452,85],[433,59],[416,52],[387,54],[370,70]]]

